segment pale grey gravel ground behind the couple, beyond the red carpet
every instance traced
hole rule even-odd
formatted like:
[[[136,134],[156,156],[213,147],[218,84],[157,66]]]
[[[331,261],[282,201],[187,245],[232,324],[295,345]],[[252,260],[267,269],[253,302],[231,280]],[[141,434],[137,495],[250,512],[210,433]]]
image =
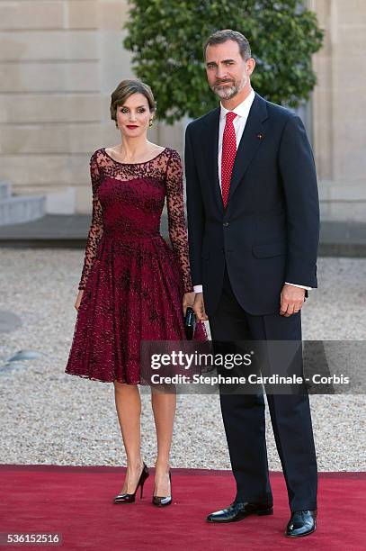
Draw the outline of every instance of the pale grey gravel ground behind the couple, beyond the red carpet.
[[[83,251],[2,249],[0,310],[22,326],[0,333],[0,364],[19,350],[41,359],[0,368],[0,462],[123,465],[113,385],[64,373]],[[321,258],[319,289],[303,311],[304,339],[366,339],[366,259]],[[143,456],[155,460],[149,394],[143,393]],[[321,471],[365,470],[363,395],[310,397]],[[268,417],[268,413],[267,413]],[[281,470],[268,418],[270,468]],[[229,468],[218,395],[180,395],[174,467]]]

